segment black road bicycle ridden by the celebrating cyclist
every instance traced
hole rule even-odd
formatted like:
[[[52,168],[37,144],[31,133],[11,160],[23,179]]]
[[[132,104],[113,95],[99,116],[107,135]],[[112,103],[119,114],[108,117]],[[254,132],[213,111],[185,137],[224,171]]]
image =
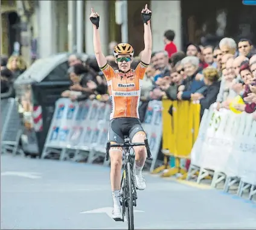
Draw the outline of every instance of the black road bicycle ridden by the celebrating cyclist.
[[[124,136],[123,144],[110,144],[107,142],[106,145],[106,160],[109,160],[109,150],[111,147],[122,147],[124,153],[124,171],[121,179],[121,192],[120,200],[122,206],[122,219],[119,221],[124,222],[124,217],[127,217],[128,229],[134,229],[133,222],[133,206],[136,206],[136,184],[135,184],[135,175],[132,168],[132,158],[130,155],[130,150],[135,146],[145,146],[147,150],[147,158],[151,157],[149,149],[149,141],[145,139],[144,143],[131,143],[128,136]],[[134,151],[134,150],[133,150]],[[118,221],[118,220],[116,220]]]

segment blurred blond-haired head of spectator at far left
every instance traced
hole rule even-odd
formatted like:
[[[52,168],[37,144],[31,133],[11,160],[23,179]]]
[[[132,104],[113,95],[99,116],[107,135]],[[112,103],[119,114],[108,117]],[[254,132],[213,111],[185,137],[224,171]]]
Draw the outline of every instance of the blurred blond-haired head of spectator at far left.
[[[13,80],[16,80],[27,69],[27,66],[21,56],[11,56],[8,59],[7,68],[13,73]]]

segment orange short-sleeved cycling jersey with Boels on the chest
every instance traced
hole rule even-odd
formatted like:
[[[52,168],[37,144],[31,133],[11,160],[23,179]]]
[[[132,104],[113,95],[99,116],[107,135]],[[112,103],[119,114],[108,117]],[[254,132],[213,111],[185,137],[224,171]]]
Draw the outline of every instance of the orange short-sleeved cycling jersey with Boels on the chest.
[[[141,83],[147,66],[140,62],[135,70],[126,73],[114,71],[109,64],[101,68],[107,80],[111,101],[110,120],[120,117],[139,118]]]

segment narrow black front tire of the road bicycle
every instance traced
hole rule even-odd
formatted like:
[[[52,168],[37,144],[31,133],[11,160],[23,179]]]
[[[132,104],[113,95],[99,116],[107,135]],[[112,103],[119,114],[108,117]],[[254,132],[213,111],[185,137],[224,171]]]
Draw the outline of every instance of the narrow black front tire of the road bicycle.
[[[127,222],[128,222],[128,229],[134,229],[134,222],[133,222],[133,194],[132,194],[132,169],[130,162],[127,162],[126,165],[126,191],[127,191]]]

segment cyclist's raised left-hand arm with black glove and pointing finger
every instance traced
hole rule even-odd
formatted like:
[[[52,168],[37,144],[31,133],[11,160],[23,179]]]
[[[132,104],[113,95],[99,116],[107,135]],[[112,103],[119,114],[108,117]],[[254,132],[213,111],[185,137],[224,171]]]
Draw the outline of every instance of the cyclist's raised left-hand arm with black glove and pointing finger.
[[[90,20],[94,28],[94,53],[100,68],[107,64],[107,59],[102,53],[101,43],[100,43],[100,32],[98,31],[100,15],[91,8]]]

